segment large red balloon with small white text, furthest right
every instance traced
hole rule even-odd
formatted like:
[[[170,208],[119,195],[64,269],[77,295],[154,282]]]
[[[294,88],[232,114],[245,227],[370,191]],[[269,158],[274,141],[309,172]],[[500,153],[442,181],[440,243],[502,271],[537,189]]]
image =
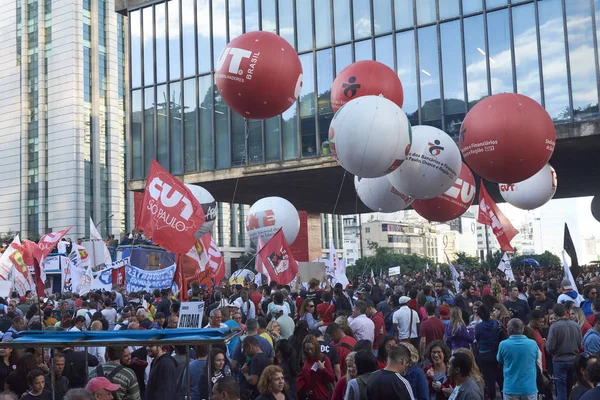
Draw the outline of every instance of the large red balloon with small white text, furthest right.
[[[552,118],[535,100],[502,93],[477,103],[460,128],[459,147],[469,167],[497,183],[535,175],[556,144]]]

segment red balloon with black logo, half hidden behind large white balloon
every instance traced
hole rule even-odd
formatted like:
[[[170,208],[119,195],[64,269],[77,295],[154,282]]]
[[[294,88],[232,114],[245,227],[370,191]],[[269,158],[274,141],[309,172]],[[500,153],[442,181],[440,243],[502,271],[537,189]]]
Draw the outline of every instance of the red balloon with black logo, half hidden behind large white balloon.
[[[331,106],[337,111],[357,97],[380,94],[402,108],[404,91],[398,75],[380,62],[358,61],[344,68],[333,81]]]

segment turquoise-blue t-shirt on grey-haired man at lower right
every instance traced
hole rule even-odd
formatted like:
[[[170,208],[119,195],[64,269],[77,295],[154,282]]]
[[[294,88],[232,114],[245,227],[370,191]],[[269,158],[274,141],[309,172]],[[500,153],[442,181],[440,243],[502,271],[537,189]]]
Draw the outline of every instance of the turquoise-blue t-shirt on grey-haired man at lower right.
[[[500,342],[496,359],[504,363],[503,392],[510,395],[537,393],[537,343],[524,335],[512,335]]]

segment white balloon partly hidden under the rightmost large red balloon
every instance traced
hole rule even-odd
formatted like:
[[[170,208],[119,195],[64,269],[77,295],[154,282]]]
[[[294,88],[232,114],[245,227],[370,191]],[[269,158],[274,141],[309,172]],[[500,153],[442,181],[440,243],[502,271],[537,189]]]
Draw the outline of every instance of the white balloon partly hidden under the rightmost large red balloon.
[[[498,188],[508,204],[522,210],[533,210],[554,197],[556,185],[556,171],[550,164],[546,164],[531,178],[518,183],[499,183]]]

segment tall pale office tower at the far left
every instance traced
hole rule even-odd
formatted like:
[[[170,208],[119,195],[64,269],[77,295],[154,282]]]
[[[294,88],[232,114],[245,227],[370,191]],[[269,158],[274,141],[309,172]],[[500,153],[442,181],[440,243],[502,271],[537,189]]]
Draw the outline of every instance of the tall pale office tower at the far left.
[[[126,228],[125,26],[114,0],[0,2],[0,232]]]

